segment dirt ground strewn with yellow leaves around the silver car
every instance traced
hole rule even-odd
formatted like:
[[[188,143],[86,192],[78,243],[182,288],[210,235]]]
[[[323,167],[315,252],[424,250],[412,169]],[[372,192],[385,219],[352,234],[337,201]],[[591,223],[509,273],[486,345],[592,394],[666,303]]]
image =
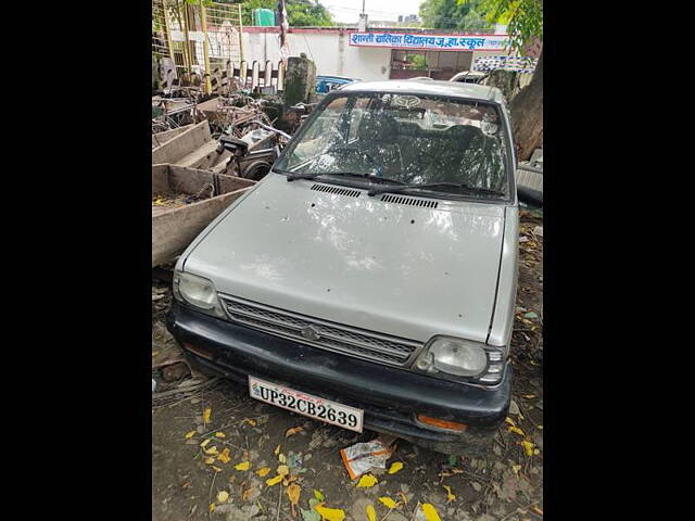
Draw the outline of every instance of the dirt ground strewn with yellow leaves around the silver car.
[[[358,434],[319,423],[254,401],[244,386],[208,380],[194,392],[153,399],[153,521],[320,521],[309,507],[309,500],[318,503],[315,494],[323,497],[325,507],[342,509],[344,519],[354,521],[369,519],[366,513],[369,505],[379,521],[425,520],[421,504],[431,504],[441,520],[542,519],[543,238],[542,231],[533,232],[538,226],[543,226],[541,214],[522,212],[510,355],[515,369],[514,403],[507,422],[498,429],[485,457],[450,457],[397,441],[387,470],[371,472],[378,483],[357,487],[356,481],[350,480],[339,450],[370,441],[376,433]],[[155,368],[176,359],[179,353],[164,328],[170,304],[167,284],[153,282],[152,298],[152,377],[157,381],[156,392],[184,391],[187,384],[201,383],[199,374],[176,374],[180,365],[165,369],[169,371],[167,378],[175,379],[169,382],[163,379],[162,367]],[[206,423],[205,409],[211,409]],[[303,430],[286,437],[288,429],[295,427]],[[204,440],[210,442],[201,447]],[[218,458],[226,448],[228,462]],[[205,462],[207,458],[211,459]],[[287,459],[290,475],[296,476],[293,484],[301,487],[296,517],[292,516],[288,487],[282,482],[266,484],[266,480],[276,475],[280,459]],[[249,470],[235,468],[244,461],[250,462]],[[388,473],[395,461],[402,462],[403,468]],[[265,467],[270,468],[269,473],[257,475],[256,471]],[[224,503],[217,497],[220,492],[229,495]],[[379,500],[384,496],[397,501],[397,506],[390,510]],[[215,506],[211,512],[212,504]]]

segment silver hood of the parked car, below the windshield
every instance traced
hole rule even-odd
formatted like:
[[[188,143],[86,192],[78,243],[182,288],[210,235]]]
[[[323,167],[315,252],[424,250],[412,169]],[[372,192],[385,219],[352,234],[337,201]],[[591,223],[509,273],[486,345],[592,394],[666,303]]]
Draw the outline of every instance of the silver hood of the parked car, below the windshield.
[[[203,232],[184,269],[220,293],[324,320],[484,342],[505,207],[386,196],[269,174]]]

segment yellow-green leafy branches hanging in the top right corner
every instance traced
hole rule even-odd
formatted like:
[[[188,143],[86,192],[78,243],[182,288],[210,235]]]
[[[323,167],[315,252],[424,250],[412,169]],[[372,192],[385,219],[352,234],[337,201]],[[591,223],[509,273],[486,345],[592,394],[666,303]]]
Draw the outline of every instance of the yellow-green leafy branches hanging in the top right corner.
[[[457,0],[478,4],[480,0]],[[488,22],[507,24],[509,47],[521,49],[533,38],[543,39],[543,0],[482,0]]]

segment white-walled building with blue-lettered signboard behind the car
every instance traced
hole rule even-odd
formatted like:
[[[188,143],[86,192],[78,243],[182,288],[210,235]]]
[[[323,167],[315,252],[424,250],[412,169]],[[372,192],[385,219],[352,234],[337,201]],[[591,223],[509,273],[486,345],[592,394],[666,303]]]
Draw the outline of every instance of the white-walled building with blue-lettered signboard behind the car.
[[[251,64],[280,60],[279,27],[244,27],[243,54]],[[445,29],[370,27],[290,27],[290,55],[306,54],[319,75],[363,80],[429,76],[450,79],[469,71],[479,56],[507,54],[506,35],[462,34]]]

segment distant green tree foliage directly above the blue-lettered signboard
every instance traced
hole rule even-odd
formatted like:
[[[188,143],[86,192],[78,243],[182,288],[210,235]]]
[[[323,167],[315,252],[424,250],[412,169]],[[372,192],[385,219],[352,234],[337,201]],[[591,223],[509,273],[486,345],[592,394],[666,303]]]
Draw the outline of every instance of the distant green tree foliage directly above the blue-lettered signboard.
[[[424,27],[481,33],[492,29],[486,18],[485,0],[425,0],[420,4]]]

